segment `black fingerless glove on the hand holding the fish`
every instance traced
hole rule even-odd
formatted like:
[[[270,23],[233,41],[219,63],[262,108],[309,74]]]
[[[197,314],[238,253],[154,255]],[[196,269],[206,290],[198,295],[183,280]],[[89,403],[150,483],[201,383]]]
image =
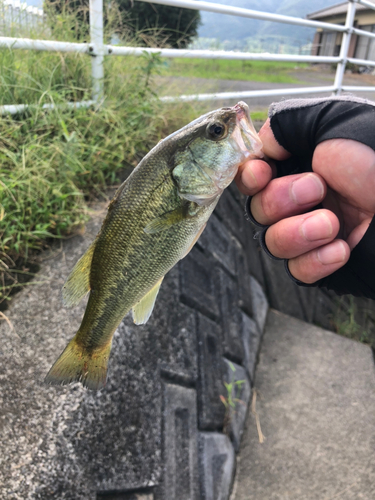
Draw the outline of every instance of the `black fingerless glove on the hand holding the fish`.
[[[280,177],[311,171],[316,146],[328,139],[352,139],[375,151],[375,103],[366,99],[291,99],[272,104],[269,117],[277,142],[292,153],[288,160],[277,162]],[[292,279],[298,285],[310,286]],[[314,285],[339,295],[375,299],[375,218],[347,264]]]

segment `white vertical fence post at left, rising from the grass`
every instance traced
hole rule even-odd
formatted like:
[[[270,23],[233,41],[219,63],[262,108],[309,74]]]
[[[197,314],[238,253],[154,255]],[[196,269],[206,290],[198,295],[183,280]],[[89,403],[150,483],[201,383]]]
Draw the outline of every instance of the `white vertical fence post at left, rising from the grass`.
[[[104,46],[103,46],[103,0],[90,0],[90,54],[92,75],[92,99],[103,98]]]

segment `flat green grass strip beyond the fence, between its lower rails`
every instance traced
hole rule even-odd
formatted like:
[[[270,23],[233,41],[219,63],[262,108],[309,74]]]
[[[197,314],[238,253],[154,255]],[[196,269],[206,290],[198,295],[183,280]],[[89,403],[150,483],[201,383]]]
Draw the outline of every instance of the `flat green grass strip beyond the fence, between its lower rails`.
[[[305,67],[299,65],[298,67]],[[293,76],[295,63],[237,61],[224,59],[172,59],[165,61],[165,76],[248,80],[254,82],[298,83]]]

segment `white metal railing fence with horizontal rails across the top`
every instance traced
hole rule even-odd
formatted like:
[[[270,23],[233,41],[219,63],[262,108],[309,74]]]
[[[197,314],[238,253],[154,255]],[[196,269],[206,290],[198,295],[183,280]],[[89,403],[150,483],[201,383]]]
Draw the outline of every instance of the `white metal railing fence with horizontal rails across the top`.
[[[182,100],[213,100],[227,98],[252,98],[278,95],[311,94],[333,92],[340,94],[342,91],[362,92],[374,91],[373,86],[343,86],[343,75],[345,66],[348,62],[375,67],[375,61],[356,59],[348,57],[348,49],[352,34],[359,36],[375,38],[375,33],[354,28],[354,17],[356,4],[360,3],[370,9],[375,10],[375,4],[367,0],[349,0],[345,25],[331,24],[319,21],[311,21],[279,14],[270,14],[256,10],[231,7],[205,1],[195,0],[139,0],[148,3],[170,5],[194,10],[204,10],[220,14],[245,17],[249,19],[260,19],[265,21],[274,21],[298,26],[307,26],[310,28],[323,28],[332,32],[342,32],[342,43],[340,54],[338,56],[308,56],[308,55],[288,55],[288,54],[269,54],[269,53],[250,53],[250,52],[231,52],[231,51],[213,51],[213,50],[188,50],[188,49],[156,49],[144,47],[121,47],[115,45],[105,45],[103,41],[103,0],[90,0],[90,43],[68,43],[56,42],[51,40],[31,40],[27,38],[12,38],[0,36],[0,48],[10,49],[28,49],[42,50],[52,52],[79,52],[86,53],[92,57],[92,101],[81,103],[68,103],[69,106],[89,106],[94,103],[100,103],[103,99],[103,60],[107,56],[140,56],[144,52],[158,53],[162,57],[183,57],[200,59],[240,59],[240,60],[261,60],[261,61],[291,61],[306,63],[337,63],[337,70],[332,85],[323,87],[303,87],[303,88],[282,88],[272,90],[253,90],[248,92],[223,92],[216,94],[196,94],[181,95],[179,97],[164,97],[164,101]],[[24,110],[27,104],[7,105],[0,107],[0,114],[18,113]],[[46,105],[46,108],[50,105]]]

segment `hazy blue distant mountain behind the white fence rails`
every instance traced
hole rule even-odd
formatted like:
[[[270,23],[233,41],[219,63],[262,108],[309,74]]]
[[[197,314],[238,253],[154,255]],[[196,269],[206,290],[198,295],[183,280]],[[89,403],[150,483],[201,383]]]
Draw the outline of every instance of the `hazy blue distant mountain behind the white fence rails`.
[[[231,5],[244,9],[283,14],[285,16],[302,17],[311,12],[324,9],[330,5],[340,3],[340,0],[206,0],[210,3]],[[288,37],[290,43],[295,44],[311,41],[314,29],[282,24],[269,21],[258,21],[243,17],[235,17],[211,12],[201,12],[202,25],[198,35],[205,38],[218,38],[219,40],[241,40],[251,37]]]

